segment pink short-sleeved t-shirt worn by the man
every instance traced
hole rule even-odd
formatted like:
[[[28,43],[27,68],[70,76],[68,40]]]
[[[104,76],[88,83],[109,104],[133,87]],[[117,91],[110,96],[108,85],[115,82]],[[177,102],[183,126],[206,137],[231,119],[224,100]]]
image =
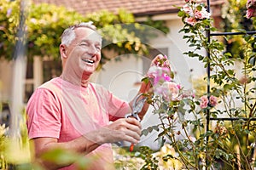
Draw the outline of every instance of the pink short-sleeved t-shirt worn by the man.
[[[56,77],[40,86],[27,103],[28,136],[67,142],[130,111],[128,103],[100,85],[90,83],[84,88]],[[86,156],[94,159],[90,169],[113,168],[111,144],[102,144]],[[75,169],[75,165],[63,169]]]

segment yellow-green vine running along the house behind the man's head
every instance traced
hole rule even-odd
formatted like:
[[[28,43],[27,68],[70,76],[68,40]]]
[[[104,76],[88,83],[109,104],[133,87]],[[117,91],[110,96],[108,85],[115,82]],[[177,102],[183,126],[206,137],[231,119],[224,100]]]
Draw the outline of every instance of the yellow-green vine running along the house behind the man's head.
[[[0,0],[0,7],[0,57],[12,59],[20,20],[20,0]],[[26,8],[28,57],[32,59],[37,55],[60,59],[58,56],[62,31],[68,26],[89,20],[93,21],[102,31],[103,47],[106,49],[113,49],[117,54],[146,54],[148,52],[148,48],[143,43],[149,38],[145,36],[145,26],[136,24],[134,16],[123,9],[120,9],[118,14],[103,10],[83,16],[64,7],[32,3]],[[155,23],[151,21],[150,24],[167,31],[161,21]],[[108,58],[103,53],[102,63],[106,60]]]

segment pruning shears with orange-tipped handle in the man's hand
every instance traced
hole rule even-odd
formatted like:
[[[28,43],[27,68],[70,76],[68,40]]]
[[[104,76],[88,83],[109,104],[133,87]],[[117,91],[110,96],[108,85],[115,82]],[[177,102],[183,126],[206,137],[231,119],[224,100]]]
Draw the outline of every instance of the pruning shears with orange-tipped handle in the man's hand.
[[[134,117],[137,119],[137,121],[141,121],[140,117],[138,116],[138,113],[141,112],[143,110],[143,106],[144,106],[144,103],[145,101],[147,100],[146,97],[143,97],[143,99],[140,99],[140,97],[142,96],[143,94],[138,94],[136,99],[134,99],[133,103],[132,103],[132,111],[131,113],[128,113],[125,115],[125,117]],[[134,147],[134,144],[131,144],[130,146],[130,151],[133,150],[133,147]]]

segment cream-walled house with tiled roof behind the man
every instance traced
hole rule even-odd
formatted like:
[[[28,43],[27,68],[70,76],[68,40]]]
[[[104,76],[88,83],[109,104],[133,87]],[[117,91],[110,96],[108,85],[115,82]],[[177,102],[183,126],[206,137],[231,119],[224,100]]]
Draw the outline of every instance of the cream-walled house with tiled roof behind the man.
[[[166,54],[172,65],[172,70],[176,72],[176,80],[183,87],[191,88],[189,82],[191,77],[197,77],[205,74],[205,69],[200,65],[197,59],[189,59],[183,56],[183,52],[188,51],[189,47],[183,40],[183,35],[178,31],[183,27],[183,23],[177,17],[177,7],[182,7],[183,0],[33,0],[34,3],[53,3],[57,6],[65,6],[73,8],[80,14],[90,14],[102,9],[108,9],[112,12],[117,12],[118,8],[125,8],[136,17],[137,21],[146,20],[150,16],[153,20],[165,20],[170,32],[166,35],[163,32],[154,30],[158,37],[151,42],[144,42],[154,47],[155,54]],[[206,3],[206,1],[204,1]],[[212,0],[211,13],[214,20],[219,20],[220,8],[224,0]],[[120,56],[117,56],[120,57]],[[48,61],[41,58],[35,58],[32,65],[28,65],[26,74],[26,93],[31,94],[43,81],[44,67]],[[130,100],[137,93],[138,83],[143,75],[148,71],[150,60],[146,57],[124,58],[120,62],[114,60],[109,61],[104,65],[104,69],[99,71],[93,81],[101,83],[105,88],[108,88],[113,94],[116,94],[121,99]],[[7,62],[0,63],[0,80],[2,80],[2,91],[0,97],[2,100],[9,100],[10,85],[12,75],[12,64]],[[56,71],[56,70],[54,70]],[[51,77],[55,75],[51,72]],[[0,84],[1,90],[1,84]],[[144,119],[144,126],[152,124],[154,116],[148,115]]]

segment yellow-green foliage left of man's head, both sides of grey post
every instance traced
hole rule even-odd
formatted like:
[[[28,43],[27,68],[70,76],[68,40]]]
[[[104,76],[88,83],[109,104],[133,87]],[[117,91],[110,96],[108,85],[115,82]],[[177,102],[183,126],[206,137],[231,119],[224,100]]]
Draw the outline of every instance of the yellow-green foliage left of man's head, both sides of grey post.
[[[17,28],[20,21],[20,1],[0,1],[0,25],[2,45],[0,57],[11,59],[14,53]],[[58,56],[61,32],[84,17],[67,8],[49,4],[31,4],[25,8],[28,56]]]

